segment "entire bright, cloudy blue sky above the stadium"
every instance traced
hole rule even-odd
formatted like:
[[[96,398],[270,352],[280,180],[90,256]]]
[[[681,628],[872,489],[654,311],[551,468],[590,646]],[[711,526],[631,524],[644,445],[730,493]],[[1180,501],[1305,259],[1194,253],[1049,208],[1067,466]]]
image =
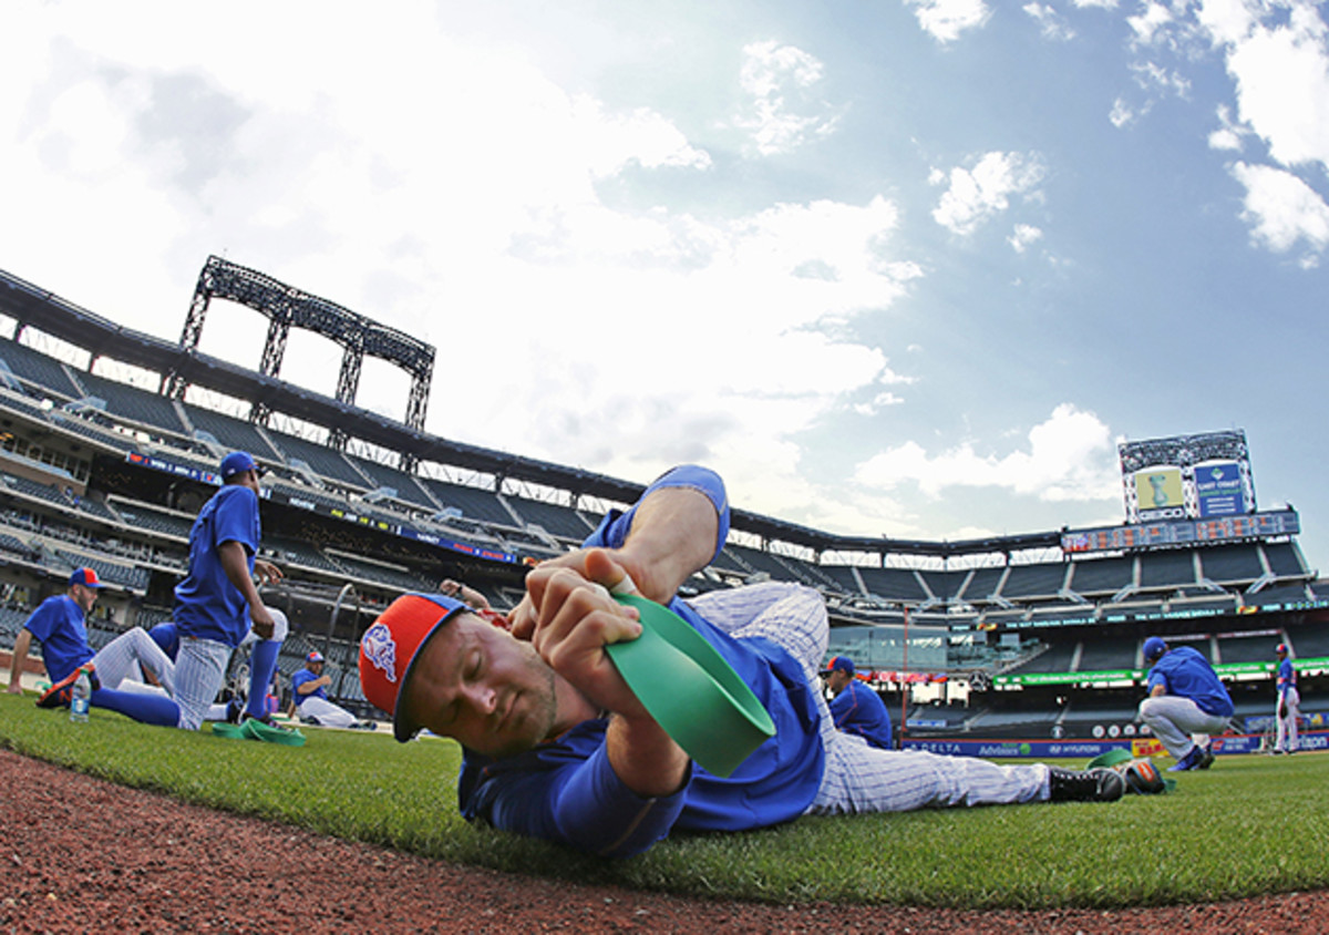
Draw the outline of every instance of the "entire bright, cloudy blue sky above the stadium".
[[[1244,428],[1329,561],[1321,4],[377,7],[5,4],[0,267],[175,339],[222,254],[436,344],[433,432],[853,535],[1118,523],[1119,440]]]

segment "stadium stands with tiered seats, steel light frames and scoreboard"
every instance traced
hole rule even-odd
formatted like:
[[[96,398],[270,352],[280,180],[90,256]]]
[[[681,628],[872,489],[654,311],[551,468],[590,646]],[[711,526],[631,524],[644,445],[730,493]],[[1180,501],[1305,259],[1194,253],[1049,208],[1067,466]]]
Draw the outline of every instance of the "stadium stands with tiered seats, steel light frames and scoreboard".
[[[268,317],[255,370],[202,354],[214,301]],[[211,314],[226,314],[211,309]],[[170,614],[189,527],[243,448],[268,468],[264,557],[288,579],[287,676],[310,648],[336,698],[364,710],[355,644],[405,591],[455,577],[496,606],[532,564],[574,548],[642,485],[424,431],[433,348],[255,270],[210,258],[178,343],[121,327],[0,271],[0,648],[76,565],[112,587],[94,642]],[[338,392],[280,379],[286,336],[344,348]],[[355,403],[365,354],[411,374],[405,420]],[[1079,755],[1139,741],[1140,646],[1208,657],[1237,705],[1229,749],[1273,712],[1273,646],[1293,649],[1308,739],[1329,716],[1329,583],[1290,507],[1256,508],[1243,432],[1120,447],[1126,521],[969,541],[836,536],[735,509],[722,555],[687,589],[776,579],[819,589],[832,652],[853,657],[912,745]]]

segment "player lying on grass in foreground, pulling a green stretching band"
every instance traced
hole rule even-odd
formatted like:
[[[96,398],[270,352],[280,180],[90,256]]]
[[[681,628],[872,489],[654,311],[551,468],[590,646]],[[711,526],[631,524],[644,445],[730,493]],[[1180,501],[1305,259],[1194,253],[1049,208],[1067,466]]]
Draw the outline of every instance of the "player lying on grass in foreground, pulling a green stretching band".
[[[1114,801],[1110,769],[997,766],[970,757],[880,750],[835,728],[820,690],[829,622],[821,596],[767,583],[692,601],[678,588],[724,545],[720,479],[675,468],[585,548],[526,576],[512,630],[443,595],[407,595],[360,642],[365,697],[399,741],[420,729],[464,747],[462,815],[630,857],[671,831],[743,831],[803,814],[961,805]],[[731,775],[694,763],[627,688],[605,646],[641,633],[609,593],[668,605],[752,689],[775,724]]]

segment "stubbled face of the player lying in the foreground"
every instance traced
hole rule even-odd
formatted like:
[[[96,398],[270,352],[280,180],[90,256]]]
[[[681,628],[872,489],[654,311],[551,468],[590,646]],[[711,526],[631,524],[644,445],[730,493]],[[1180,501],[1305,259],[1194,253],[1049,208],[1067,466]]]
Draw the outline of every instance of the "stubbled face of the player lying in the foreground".
[[[420,726],[510,757],[553,729],[554,670],[529,642],[461,613],[420,649],[403,702]]]

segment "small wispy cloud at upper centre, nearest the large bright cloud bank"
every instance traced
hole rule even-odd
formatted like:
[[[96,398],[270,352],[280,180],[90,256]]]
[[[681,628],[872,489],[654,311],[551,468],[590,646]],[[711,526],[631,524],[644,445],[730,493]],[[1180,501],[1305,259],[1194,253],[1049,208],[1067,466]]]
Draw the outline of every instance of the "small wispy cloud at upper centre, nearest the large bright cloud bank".
[[[739,84],[748,102],[734,124],[751,134],[759,154],[787,153],[835,132],[840,114],[813,94],[823,70],[816,57],[792,45],[767,40],[743,47]]]

